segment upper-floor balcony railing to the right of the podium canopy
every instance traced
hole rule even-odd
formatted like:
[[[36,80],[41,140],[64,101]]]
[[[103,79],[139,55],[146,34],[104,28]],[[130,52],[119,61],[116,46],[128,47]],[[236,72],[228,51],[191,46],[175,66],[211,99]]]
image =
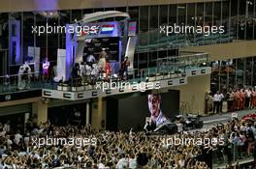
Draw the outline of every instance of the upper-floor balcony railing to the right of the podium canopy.
[[[215,43],[233,42],[234,30],[226,30],[223,34],[170,34],[160,33],[161,29],[154,29],[138,34],[138,45],[136,52],[151,51],[155,48],[176,49],[184,46],[198,46]]]

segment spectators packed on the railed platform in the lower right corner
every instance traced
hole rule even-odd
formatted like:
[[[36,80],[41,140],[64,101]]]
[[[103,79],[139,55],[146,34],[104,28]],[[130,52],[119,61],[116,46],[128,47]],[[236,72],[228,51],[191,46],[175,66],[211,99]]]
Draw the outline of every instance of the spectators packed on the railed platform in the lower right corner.
[[[256,128],[253,120],[234,119],[226,125],[214,127],[224,138],[224,145],[215,147],[216,161],[237,161],[255,155]]]

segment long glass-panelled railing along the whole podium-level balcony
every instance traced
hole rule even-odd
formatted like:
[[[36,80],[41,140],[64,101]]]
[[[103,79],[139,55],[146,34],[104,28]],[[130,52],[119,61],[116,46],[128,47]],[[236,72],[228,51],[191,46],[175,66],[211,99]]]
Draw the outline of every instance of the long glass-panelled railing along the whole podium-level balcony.
[[[82,91],[96,89],[96,84],[106,82],[130,82],[140,83],[148,81],[158,81],[164,79],[179,78],[186,75],[186,70],[191,67],[205,67],[208,64],[207,53],[192,53],[183,56],[165,57],[154,60],[156,67],[145,69],[128,70],[121,78],[120,73],[108,74],[99,72],[97,74],[79,74],[73,76],[67,81],[54,82],[52,76],[46,75],[44,72],[31,72],[14,75],[0,76],[0,94],[15,93],[26,90],[52,89],[73,91],[73,87],[80,87]]]

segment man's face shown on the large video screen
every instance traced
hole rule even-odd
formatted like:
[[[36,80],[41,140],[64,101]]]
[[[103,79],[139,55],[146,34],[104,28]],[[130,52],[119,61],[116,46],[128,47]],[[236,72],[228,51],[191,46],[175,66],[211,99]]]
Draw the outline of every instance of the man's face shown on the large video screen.
[[[160,113],[161,98],[159,95],[150,94],[147,95],[148,109],[151,117],[157,118]]]

